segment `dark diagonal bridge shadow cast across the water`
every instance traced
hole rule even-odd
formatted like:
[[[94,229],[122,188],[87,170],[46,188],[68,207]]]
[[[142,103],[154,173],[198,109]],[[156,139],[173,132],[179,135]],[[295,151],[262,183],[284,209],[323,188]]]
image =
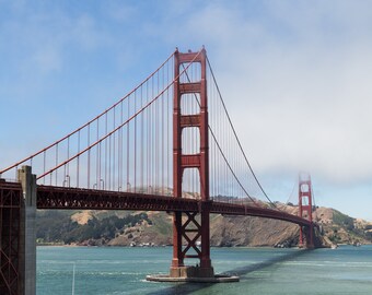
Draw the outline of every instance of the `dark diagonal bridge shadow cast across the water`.
[[[246,278],[245,275],[255,272],[268,267],[272,267],[277,263],[284,262],[284,261],[290,261],[297,257],[303,256],[305,253],[309,253],[309,251],[312,250],[299,250],[299,251],[293,251],[290,253],[281,255],[278,257],[270,258],[268,260],[265,260],[259,263],[254,263],[236,269],[232,269],[230,271],[225,271],[221,274],[223,275],[239,275],[240,281],[247,281],[249,278]],[[200,290],[207,290],[208,287],[216,285],[216,283],[170,283],[172,284],[167,288],[162,288],[160,291],[155,292],[150,292],[147,293],[148,295],[171,295],[171,294],[179,294],[179,295],[186,295],[186,294],[191,294],[193,292],[200,291]],[[219,283],[219,284],[239,284],[237,283]]]

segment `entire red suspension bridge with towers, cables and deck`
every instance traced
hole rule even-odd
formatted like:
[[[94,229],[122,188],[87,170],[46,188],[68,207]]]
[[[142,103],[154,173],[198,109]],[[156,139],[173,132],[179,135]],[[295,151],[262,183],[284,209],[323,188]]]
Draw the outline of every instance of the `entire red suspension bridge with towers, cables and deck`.
[[[211,213],[295,223],[299,245],[314,247],[310,177],[299,181],[299,215],[269,199],[204,48],[176,49],[113,106],[0,178],[1,294],[36,292],[36,209],[172,213],[175,279],[214,278]]]

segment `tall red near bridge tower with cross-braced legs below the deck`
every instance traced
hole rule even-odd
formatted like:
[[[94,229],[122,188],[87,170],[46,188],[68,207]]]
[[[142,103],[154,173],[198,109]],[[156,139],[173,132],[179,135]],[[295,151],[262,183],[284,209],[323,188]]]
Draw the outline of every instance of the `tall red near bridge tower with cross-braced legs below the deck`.
[[[208,99],[206,80],[206,50],[200,52],[175,52],[174,96],[173,96],[173,197],[182,198],[183,175],[185,169],[196,168],[200,177],[199,220],[197,213],[175,212],[173,217],[173,260],[171,278],[212,278],[214,275],[210,260],[209,240],[209,143],[208,143]],[[199,63],[200,80],[179,79],[181,70],[190,63]],[[193,66],[193,64],[190,64]],[[194,115],[183,115],[181,102],[183,95],[198,95],[200,111]],[[200,134],[200,151],[196,154],[183,154],[183,130],[198,128]],[[197,241],[200,239],[200,248]],[[186,247],[183,247],[186,245]],[[185,258],[199,259],[199,266],[186,267]]]

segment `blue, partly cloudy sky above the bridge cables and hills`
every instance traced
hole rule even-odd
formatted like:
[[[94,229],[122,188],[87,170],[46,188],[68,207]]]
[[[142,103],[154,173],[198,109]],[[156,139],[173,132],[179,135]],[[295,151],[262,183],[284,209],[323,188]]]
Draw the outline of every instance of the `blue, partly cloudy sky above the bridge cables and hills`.
[[[0,0],[0,167],[201,46],[270,199],[295,202],[309,172],[316,205],[372,221],[367,0]]]

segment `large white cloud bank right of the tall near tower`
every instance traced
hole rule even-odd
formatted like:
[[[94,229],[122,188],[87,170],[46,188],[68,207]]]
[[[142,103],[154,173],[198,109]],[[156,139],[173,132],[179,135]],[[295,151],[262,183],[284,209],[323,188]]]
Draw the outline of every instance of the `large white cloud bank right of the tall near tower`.
[[[206,7],[188,21],[189,34],[213,45],[244,146],[263,173],[372,177],[370,13],[346,2],[269,3],[268,21],[225,7]]]

